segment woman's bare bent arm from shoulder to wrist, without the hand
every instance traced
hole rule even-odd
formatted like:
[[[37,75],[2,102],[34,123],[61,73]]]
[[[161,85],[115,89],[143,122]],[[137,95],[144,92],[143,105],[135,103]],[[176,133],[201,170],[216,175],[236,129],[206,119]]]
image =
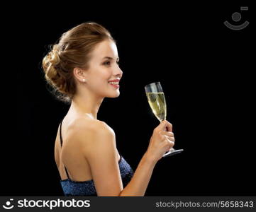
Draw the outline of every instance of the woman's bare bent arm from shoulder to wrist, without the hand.
[[[133,178],[123,189],[123,183],[116,156],[116,139],[113,130],[104,122],[82,126],[77,139],[83,143],[84,158],[91,167],[91,175],[98,196],[143,196],[148,187],[155,160],[147,153],[135,170]],[[87,141],[84,141],[87,138]]]

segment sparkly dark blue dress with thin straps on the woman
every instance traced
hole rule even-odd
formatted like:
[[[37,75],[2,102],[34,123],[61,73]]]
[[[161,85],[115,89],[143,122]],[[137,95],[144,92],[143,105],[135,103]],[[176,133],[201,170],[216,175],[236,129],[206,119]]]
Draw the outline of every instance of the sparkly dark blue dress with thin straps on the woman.
[[[60,123],[60,146],[62,146],[61,127],[62,122]],[[133,169],[122,157],[122,155],[118,161],[118,165],[121,173],[123,187],[126,187],[126,185],[130,182],[130,179],[133,177]],[[82,182],[73,181],[72,179],[69,179],[66,167],[65,171],[67,174],[67,179],[60,180],[60,184],[65,196],[97,196],[93,179]]]

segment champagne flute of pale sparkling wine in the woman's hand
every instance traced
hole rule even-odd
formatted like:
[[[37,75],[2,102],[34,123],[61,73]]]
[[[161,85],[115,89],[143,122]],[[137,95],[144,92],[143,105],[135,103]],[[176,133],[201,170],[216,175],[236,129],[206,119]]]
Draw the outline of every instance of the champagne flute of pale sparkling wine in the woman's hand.
[[[152,112],[155,114],[155,117],[162,122],[166,119],[167,108],[165,102],[165,94],[162,91],[162,86],[160,82],[150,83],[145,86],[145,92],[148,98],[148,103],[152,109]],[[175,155],[181,153],[183,149],[175,150],[171,148],[169,152],[166,152],[162,157]]]

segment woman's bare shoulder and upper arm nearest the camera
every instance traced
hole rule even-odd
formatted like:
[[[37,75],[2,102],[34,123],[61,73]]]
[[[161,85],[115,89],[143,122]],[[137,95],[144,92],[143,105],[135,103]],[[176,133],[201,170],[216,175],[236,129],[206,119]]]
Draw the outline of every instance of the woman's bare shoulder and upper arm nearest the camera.
[[[83,118],[70,122],[69,129],[71,143],[78,144],[74,155],[79,153],[89,164],[97,195],[118,196],[123,183],[113,129],[106,122]]]

